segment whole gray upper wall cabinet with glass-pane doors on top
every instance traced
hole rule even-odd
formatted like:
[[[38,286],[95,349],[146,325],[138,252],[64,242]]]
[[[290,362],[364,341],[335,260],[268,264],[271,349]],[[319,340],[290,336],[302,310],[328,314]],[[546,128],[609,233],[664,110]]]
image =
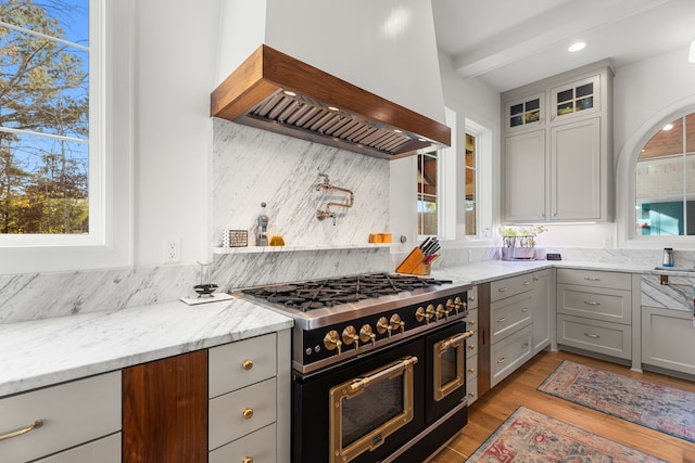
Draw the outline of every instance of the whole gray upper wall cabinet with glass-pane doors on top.
[[[502,100],[505,220],[612,220],[609,64],[509,90]],[[536,102],[544,107],[527,111]]]

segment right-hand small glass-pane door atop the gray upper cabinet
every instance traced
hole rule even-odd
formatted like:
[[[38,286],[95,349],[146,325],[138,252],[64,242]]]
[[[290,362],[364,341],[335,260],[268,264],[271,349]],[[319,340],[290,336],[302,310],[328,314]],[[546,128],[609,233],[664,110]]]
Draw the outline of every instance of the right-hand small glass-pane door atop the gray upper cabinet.
[[[551,121],[601,111],[599,76],[589,77],[551,90]]]

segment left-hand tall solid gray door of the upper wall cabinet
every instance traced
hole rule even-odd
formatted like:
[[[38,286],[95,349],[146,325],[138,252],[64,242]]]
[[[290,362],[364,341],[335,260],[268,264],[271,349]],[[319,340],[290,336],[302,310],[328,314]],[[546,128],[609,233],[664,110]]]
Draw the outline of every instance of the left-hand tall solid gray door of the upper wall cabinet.
[[[504,179],[507,220],[545,220],[545,130],[505,139]]]

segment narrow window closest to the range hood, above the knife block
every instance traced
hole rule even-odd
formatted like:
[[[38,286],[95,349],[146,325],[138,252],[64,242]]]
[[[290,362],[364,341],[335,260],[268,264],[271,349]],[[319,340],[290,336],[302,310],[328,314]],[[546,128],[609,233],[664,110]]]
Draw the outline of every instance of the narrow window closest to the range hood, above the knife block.
[[[440,155],[437,151],[418,154],[417,162],[417,234],[439,234],[440,192],[438,185]]]

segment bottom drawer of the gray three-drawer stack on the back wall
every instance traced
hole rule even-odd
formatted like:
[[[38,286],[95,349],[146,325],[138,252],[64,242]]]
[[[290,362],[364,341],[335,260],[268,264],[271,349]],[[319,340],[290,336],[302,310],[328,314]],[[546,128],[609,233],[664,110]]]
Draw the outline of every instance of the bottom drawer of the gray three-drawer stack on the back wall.
[[[557,344],[619,359],[632,358],[631,333],[630,326],[620,323],[557,316]]]

